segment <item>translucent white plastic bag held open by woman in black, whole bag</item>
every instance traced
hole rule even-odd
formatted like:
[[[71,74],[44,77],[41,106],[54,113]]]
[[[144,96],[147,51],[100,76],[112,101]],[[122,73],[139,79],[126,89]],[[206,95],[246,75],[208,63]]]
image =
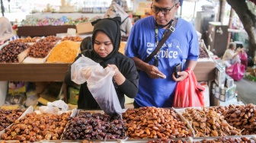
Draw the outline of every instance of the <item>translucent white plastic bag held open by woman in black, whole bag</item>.
[[[112,68],[103,68],[97,62],[85,56],[80,57],[72,64],[72,81],[82,84],[87,81],[88,90],[91,92],[104,113],[121,115],[122,110],[117,97],[117,92],[112,82],[115,74]]]

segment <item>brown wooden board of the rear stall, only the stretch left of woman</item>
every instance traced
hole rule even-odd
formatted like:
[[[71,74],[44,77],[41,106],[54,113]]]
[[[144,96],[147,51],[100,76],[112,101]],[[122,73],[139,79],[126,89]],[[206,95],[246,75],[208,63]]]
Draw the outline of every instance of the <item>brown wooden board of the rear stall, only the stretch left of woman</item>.
[[[64,81],[70,64],[0,63],[0,81]]]

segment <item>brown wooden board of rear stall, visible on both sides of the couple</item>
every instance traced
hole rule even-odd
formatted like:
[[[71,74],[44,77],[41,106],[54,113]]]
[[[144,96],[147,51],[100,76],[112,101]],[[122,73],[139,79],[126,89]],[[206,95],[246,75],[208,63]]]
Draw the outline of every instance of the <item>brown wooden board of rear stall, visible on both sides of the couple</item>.
[[[0,81],[64,81],[70,65],[71,63],[0,63]],[[197,81],[214,80],[215,68],[215,62],[197,62],[194,69]]]

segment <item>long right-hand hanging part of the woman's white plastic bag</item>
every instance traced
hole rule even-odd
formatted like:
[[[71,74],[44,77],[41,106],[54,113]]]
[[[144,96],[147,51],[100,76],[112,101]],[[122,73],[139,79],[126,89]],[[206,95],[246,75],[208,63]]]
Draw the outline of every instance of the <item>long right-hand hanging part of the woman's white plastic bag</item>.
[[[117,92],[112,82],[115,71],[112,68],[94,68],[88,78],[87,86],[104,113],[121,115],[124,110],[120,106]]]

